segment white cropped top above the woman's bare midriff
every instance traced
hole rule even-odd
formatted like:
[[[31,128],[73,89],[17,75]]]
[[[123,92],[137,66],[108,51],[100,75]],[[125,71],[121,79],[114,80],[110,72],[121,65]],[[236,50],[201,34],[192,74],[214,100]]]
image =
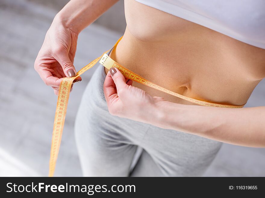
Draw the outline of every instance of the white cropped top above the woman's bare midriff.
[[[265,49],[265,0],[136,0]]]

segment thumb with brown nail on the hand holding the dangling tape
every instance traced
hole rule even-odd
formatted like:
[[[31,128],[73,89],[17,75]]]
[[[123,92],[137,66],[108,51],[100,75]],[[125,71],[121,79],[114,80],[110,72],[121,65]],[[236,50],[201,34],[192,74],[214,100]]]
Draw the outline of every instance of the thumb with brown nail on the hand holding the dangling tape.
[[[67,51],[58,53],[57,61],[62,66],[65,76],[67,77],[76,76],[76,69],[73,66],[72,61],[70,60]]]

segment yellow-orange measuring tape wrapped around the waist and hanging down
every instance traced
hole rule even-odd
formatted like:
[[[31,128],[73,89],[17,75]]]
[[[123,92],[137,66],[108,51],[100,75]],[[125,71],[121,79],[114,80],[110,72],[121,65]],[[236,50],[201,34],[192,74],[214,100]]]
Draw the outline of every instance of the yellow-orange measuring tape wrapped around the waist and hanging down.
[[[111,48],[117,46],[117,44],[120,42],[122,37],[115,43],[115,45]],[[110,50],[111,50],[110,49]],[[201,100],[189,98],[183,95],[180,95],[178,93],[175,93],[173,91],[167,90],[161,86],[158,86],[157,84],[152,83],[149,80],[146,80],[145,78],[139,76],[138,74],[130,71],[129,69],[123,67],[119,63],[112,60],[106,53],[110,50],[104,52],[100,57],[96,58],[94,61],[83,67],[80,71],[77,72],[75,77],[65,77],[61,81],[59,93],[58,93],[58,99],[57,99],[57,105],[56,105],[56,111],[55,111],[55,119],[53,124],[53,132],[52,132],[52,140],[51,140],[51,156],[50,156],[50,164],[49,164],[49,177],[52,177],[55,171],[55,165],[56,160],[58,157],[58,152],[61,144],[61,137],[63,133],[64,128],[64,120],[66,116],[66,110],[67,110],[67,103],[70,95],[70,89],[71,85],[73,83],[73,80],[83,74],[85,71],[92,68],[99,60],[99,63],[102,64],[105,68],[110,69],[111,67],[116,67],[120,70],[120,72],[123,74],[124,77],[136,81],[138,83],[144,84],[146,86],[152,87],[156,90],[160,90],[162,92],[168,93],[170,95],[176,96],[178,98],[187,100],[189,102],[193,102],[197,105],[202,106],[211,106],[211,107],[225,107],[225,108],[242,108],[244,105],[240,106],[234,106],[234,105],[220,105],[216,103],[211,102],[204,102]]]

